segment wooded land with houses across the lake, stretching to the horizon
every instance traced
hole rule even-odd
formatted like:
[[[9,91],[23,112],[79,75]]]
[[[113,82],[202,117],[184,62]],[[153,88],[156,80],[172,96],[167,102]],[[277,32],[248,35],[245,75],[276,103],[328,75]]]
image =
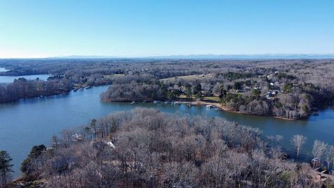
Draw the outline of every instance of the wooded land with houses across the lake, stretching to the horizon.
[[[307,118],[333,101],[334,60],[74,59],[1,60],[0,75],[51,74],[0,85],[0,102],[111,84],[106,102],[206,101],[224,110]],[[25,88],[22,92],[21,88]]]

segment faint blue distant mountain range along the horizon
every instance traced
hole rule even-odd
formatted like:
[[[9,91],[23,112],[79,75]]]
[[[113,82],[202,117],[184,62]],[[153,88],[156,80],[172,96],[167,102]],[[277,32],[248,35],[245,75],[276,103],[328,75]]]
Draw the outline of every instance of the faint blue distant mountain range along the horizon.
[[[214,54],[198,54],[198,55],[175,55],[175,56],[54,56],[48,57],[54,59],[72,59],[72,58],[181,58],[181,59],[275,59],[275,58],[334,58],[334,54],[231,54],[231,55],[214,55]]]

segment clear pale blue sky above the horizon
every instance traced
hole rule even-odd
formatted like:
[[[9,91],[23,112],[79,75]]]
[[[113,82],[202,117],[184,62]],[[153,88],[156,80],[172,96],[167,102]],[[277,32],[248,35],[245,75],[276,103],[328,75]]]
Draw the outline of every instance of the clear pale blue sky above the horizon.
[[[0,0],[0,58],[334,53],[334,1]]]

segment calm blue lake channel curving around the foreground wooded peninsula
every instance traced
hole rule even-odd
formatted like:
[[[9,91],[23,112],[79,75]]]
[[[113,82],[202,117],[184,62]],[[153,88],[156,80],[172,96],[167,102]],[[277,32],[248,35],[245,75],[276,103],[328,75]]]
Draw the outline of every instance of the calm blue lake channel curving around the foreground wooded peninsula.
[[[174,106],[172,104],[129,104],[104,103],[100,93],[107,86],[70,92],[68,95],[19,100],[10,104],[0,104],[0,150],[7,150],[13,157],[15,176],[19,166],[28,155],[31,147],[38,144],[49,145],[51,136],[61,130],[78,127],[92,118],[105,116],[113,111],[125,111],[134,107],[156,108],[167,113],[189,114],[191,116],[221,116],[242,125],[260,128],[266,135],[280,134],[284,137],[283,146],[293,153],[289,140],[294,134],[308,137],[302,154],[310,154],[315,139],[334,144],[334,111],[321,110],[319,116],[308,120],[280,120],[278,118],[247,116],[224,111],[214,111],[205,107]]]

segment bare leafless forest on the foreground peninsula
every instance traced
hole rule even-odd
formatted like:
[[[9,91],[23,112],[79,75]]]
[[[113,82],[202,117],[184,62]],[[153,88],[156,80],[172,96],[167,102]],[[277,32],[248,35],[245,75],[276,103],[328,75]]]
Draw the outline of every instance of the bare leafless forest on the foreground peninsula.
[[[223,118],[175,116],[154,109],[111,113],[33,146],[13,187],[324,187],[324,167],[287,160],[281,136]],[[295,135],[296,156],[305,137]],[[328,149],[329,148],[329,149]],[[334,147],[315,141],[332,169]],[[1,158],[1,157],[0,157]],[[8,156],[6,157],[8,160]],[[298,161],[298,159],[297,159]],[[8,163],[7,163],[8,164]],[[1,167],[1,166],[0,166]]]

